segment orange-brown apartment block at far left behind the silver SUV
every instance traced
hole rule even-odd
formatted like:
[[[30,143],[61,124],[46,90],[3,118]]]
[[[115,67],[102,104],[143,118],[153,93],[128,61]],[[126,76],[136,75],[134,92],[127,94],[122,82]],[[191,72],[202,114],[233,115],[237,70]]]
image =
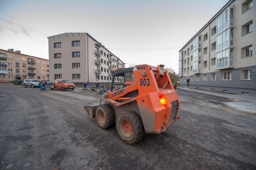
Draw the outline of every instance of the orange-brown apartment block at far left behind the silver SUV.
[[[21,51],[0,49],[0,82],[14,79],[49,79],[49,60],[21,54]]]

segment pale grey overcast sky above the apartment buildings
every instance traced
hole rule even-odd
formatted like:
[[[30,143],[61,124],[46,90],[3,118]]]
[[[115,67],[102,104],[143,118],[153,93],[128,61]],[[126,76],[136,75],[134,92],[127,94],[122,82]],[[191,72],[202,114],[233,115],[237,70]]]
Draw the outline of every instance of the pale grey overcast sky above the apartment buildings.
[[[179,50],[228,0],[0,0],[0,49],[49,59],[49,36],[87,32],[126,67],[179,72]]]

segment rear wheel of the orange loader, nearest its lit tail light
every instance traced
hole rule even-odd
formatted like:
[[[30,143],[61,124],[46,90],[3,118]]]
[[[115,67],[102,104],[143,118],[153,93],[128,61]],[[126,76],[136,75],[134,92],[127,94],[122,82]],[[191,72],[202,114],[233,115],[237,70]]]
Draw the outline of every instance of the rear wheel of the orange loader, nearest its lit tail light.
[[[119,114],[115,126],[119,137],[127,144],[135,144],[144,134],[141,117],[134,111]]]

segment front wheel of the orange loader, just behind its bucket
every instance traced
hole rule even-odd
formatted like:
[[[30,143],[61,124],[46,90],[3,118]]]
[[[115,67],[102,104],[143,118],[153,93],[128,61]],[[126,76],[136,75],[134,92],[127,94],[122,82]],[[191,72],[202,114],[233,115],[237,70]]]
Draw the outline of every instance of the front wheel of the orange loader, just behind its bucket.
[[[102,104],[96,108],[96,121],[100,128],[107,129],[115,123],[115,113],[109,104]]]

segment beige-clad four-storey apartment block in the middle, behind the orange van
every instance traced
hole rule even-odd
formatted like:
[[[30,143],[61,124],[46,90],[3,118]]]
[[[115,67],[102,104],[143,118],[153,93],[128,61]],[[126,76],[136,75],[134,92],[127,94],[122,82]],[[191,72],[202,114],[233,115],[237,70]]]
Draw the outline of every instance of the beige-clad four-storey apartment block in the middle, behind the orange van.
[[[111,83],[111,68],[125,67],[125,63],[87,32],[66,32],[48,37],[50,82],[70,79],[76,85],[96,80]]]

